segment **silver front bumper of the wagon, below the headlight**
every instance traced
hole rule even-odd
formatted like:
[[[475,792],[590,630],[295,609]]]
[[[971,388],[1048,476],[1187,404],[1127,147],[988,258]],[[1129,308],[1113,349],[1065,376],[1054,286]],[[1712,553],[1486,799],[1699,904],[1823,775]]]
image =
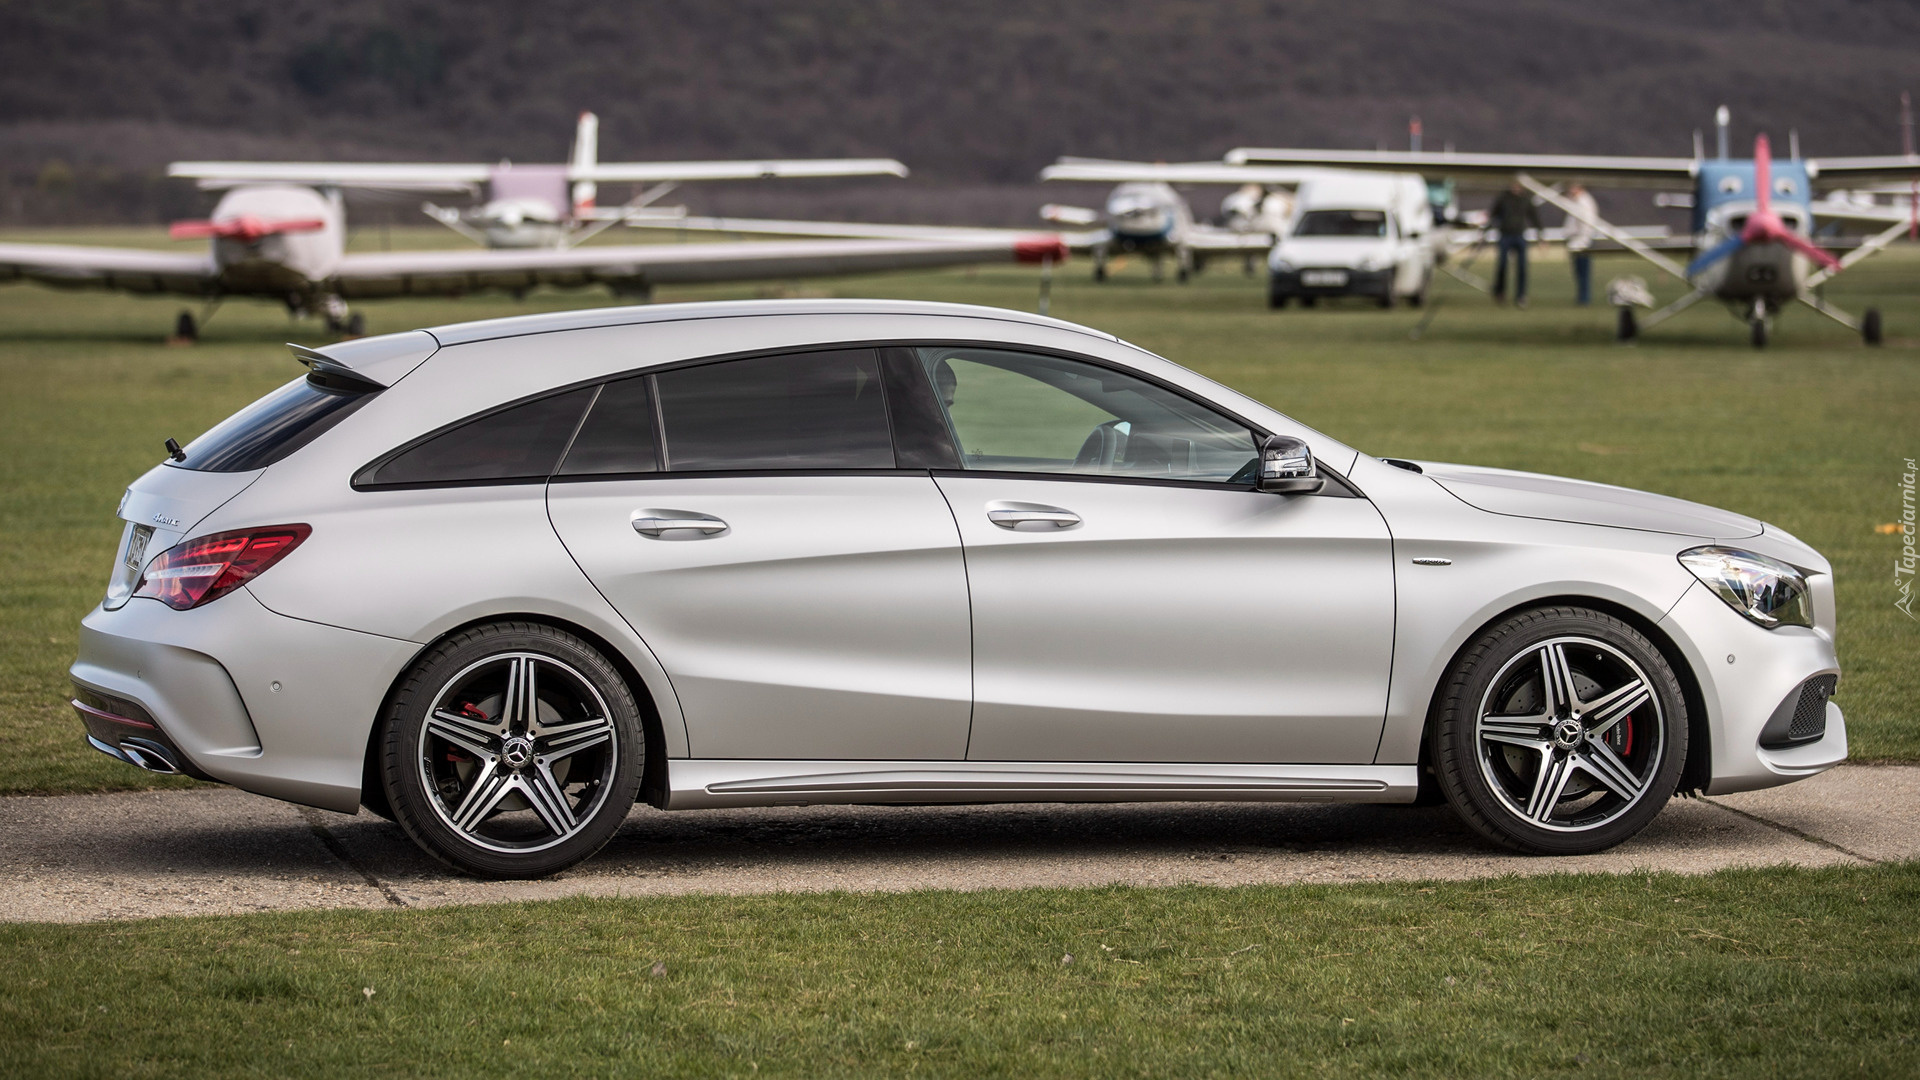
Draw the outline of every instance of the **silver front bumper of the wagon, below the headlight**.
[[[1834,701],[1826,701],[1826,730],[1818,738],[1780,746],[1778,730],[1768,730],[1778,728],[1782,709],[1791,713],[1807,680],[1839,675],[1826,630],[1755,626],[1703,584],[1686,590],[1663,626],[1699,675],[1713,736],[1713,780],[1705,794],[1791,784],[1847,759],[1847,719]]]

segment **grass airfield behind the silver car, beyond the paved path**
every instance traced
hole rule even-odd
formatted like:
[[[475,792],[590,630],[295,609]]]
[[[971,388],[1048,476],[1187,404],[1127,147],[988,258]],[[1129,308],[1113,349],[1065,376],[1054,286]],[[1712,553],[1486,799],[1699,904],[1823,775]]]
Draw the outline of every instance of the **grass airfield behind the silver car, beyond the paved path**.
[[[444,244],[444,231],[355,238]],[[165,246],[157,231],[35,233]],[[1640,273],[1603,259],[1597,277]],[[960,300],[1031,309],[1031,269],[804,282],[806,294]],[[758,296],[766,286],[676,288],[660,300]],[[1699,500],[1801,536],[1837,569],[1839,703],[1859,759],[1920,759],[1920,625],[1893,607],[1899,471],[1920,434],[1920,252],[1836,282],[1830,298],[1887,315],[1868,350],[1812,311],[1789,311],[1764,352],[1699,307],[1644,344],[1611,340],[1611,311],[1569,302],[1565,263],[1536,261],[1536,304],[1496,309],[1446,282],[1421,340],[1419,311],[1323,306],[1271,313],[1261,286],[1217,267],[1190,286],[1125,267],[1096,286],[1064,269],[1052,311],[1204,371],[1373,454],[1534,469]],[[564,306],[536,294],[367,306],[374,331]],[[65,707],[81,615],[106,586],[121,490],[298,369],[280,342],[321,342],[259,302],[225,306],[202,344],[169,348],[177,300],[0,288],[0,792],[152,786],[84,748]]]

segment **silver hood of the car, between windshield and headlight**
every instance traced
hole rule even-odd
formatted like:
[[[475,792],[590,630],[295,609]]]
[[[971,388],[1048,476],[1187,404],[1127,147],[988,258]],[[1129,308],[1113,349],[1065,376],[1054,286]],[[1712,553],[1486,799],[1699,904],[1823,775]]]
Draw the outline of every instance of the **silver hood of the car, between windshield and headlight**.
[[[1715,540],[1743,540],[1764,528],[1759,521],[1726,509],[1611,484],[1475,465],[1419,461],[1419,467],[1453,498],[1488,513]]]

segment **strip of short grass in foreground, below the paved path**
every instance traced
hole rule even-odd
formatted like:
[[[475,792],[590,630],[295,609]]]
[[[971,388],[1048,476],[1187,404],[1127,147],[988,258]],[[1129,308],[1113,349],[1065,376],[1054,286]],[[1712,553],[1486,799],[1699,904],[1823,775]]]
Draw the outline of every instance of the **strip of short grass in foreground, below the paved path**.
[[[0,1072],[1910,1076],[1916,907],[1907,865],[6,926]]]

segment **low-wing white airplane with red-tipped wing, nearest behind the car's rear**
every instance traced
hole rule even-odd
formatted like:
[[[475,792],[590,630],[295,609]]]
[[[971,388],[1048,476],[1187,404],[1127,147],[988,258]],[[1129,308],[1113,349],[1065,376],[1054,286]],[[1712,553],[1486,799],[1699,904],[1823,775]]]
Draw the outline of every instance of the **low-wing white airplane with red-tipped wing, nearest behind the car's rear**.
[[[1058,236],[1035,233],[349,254],[340,190],[298,184],[234,186],[211,217],[175,223],[173,236],[209,244],[200,252],[0,244],[0,282],[190,296],[207,306],[198,319],[180,311],[175,336],[190,340],[211,307],[234,296],[276,300],[296,317],[323,315],[330,331],[361,334],[365,317],[348,309],[351,300],[518,294],[541,284],[605,284],[645,298],[657,284],[1066,258]]]

